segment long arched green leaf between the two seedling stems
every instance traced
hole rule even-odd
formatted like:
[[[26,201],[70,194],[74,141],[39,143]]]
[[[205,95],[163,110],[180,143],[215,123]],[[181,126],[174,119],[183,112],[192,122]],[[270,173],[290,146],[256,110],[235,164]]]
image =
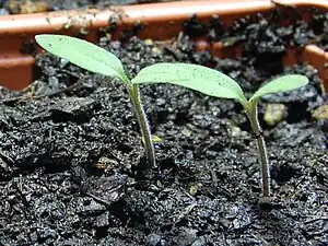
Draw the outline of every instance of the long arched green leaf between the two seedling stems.
[[[169,83],[210,96],[233,98],[243,105],[247,104],[242,89],[233,79],[199,65],[166,62],[152,65],[142,69],[131,82],[133,84]]]

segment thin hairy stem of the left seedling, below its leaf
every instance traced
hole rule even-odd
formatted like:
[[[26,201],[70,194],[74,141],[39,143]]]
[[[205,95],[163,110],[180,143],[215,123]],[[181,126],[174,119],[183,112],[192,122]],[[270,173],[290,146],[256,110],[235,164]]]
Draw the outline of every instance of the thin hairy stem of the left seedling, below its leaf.
[[[156,167],[152,134],[141,104],[139,86],[133,84],[132,87],[129,89],[129,92],[137,112],[148,162],[151,166]]]

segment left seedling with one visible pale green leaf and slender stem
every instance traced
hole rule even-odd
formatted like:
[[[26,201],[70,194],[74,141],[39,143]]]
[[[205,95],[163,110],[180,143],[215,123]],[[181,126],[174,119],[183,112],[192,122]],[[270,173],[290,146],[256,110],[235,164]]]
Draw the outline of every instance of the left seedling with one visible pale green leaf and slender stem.
[[[91,72],[117,78],[124,82],[138,116],[148,162],[155,167],[153,140],[140,99],[139,84],[132,84],[120,60],[114,54],[75,37],[43,34],[36,35],[35,39],[45,50],[52,55],[65,58]]]

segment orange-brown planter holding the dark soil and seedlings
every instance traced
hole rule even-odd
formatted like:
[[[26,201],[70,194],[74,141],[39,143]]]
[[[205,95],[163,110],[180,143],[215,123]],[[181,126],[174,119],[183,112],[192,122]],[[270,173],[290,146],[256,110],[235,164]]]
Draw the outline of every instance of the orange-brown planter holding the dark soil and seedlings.
[[[277,1],[279,2],[279,1]],[[325,1],[289,1],[295,7],[317,7],[325,9]],[[183,23],[197,13],[201,21],[209,21],[212,14],[220,15],[224,25],[232,24],[236,17],[266,13],[274,9],[271,1],[187,1],[118,7],[107,11],[84,10],[63,11],[37,14],[21,14],[0,16],[0,81],[2,85],[20,90],[33,81],[34,58],[28,52],[34,42],[34,35],[40,33],[80,34],[89,40],[95,40],[97,30],[105,28],[108,23],[118,25],[113,35],[117,38],[122,30],[132,28],[136,23],[143,26],[139,32],[141,38],[167,39],[175,36]],[[174,10],[174,11],[171,11]],[[117,20],[118,21],[117,23]],[[167,21],[171,20],[171,21]],[[169,27],[168,27],[169,26]],[[86,34],[85,34],[86,33]],[[85,35],[84,35],[85,34]],[[26,54],[27,52],[27,54]],[[286,62],[294,62],[294,56],[288,56]],[[314,65],[327,89],[327,72],[323,67],[325,52],[314,46],[304,49],[304,55],[297,60]]]

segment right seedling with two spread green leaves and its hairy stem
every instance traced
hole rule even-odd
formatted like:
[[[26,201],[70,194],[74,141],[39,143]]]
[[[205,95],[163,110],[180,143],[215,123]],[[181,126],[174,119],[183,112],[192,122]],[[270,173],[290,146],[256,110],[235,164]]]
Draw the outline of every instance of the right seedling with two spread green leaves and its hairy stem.
[[[272,93],[291,91],[308,83],[304,75],[289,74],[272,80],[260,87],[249,99],[236,81],[216,70],[186,63],[156,63],[142,69],[132,84],[140,83],[171,83],[188,87],[203,94],[231,98],[239,102],[246,113],[253,129],[254,138],[257,140],[258,155],[261,169],[262,197],[270,197],[270,173],[267,157],[267,149],[262,131],[258,121],[257,103],[261,96]]]

